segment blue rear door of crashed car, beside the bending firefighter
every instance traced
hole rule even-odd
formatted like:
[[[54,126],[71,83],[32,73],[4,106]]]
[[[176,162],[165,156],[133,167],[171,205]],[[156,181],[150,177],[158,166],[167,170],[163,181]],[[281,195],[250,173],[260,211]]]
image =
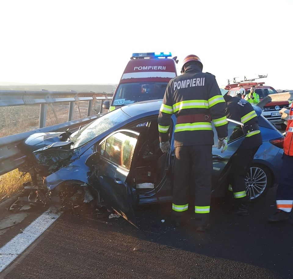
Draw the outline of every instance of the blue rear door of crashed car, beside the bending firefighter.
[[[230,170],[230,158],[235,154],[237,149],[240,147],[241,143],[245,139],[246,132],[244,129],[244,124],[233,119],[227,118],[228,121],[228,145],[227,149],[221,153],[221,149],[218,149],[217,145],[213,145],[213,174],[212,174],[212,192],[222,185],[229,175]],[[214,132],[215,138],[214,142],[217,144],[217,133]],[[228,186],[227,186],[228,188]],[[227,189],[226,189],[227,190]],[[218,196],[218,195],[214,195]],[[221,196],[221,195],[219,195]]]

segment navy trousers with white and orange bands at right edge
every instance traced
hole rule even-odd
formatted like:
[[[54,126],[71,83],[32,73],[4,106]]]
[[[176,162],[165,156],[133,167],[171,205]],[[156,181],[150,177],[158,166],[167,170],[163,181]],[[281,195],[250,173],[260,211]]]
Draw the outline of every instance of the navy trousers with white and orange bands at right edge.
[[[280,182],[276,193],[277,208],[285,212],[292,210],[293,203],[293,156],[283,155]]]

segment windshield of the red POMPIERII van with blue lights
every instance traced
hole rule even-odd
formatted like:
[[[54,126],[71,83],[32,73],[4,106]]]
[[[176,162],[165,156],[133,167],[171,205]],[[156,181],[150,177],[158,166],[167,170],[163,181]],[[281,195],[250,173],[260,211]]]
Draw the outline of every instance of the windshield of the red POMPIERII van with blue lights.
[[[116,91],[112,106],[163,99],[167,84],[166,82],[122,83]]]

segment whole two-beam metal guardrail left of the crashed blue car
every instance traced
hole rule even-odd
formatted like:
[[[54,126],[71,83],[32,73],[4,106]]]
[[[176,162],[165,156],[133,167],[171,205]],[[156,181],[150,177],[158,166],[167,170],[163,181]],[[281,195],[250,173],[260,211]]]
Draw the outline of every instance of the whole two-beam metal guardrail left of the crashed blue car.
[[[103,110],[103,101],[110,100],[113,94],[96,92],[75,92],[75,91],[13,91],[0,90],[0,107],[40,104],[39,129],[23,132],[0,138],[0,175],[19,168],[24,164],[26,154],[20,150],[23,141],[34,133],[62,132],[66,129],[78,128],[99,118],[99,115],[92,115],[92,104],[95,100],[101,100],[99,113]],[[87,117],[72,120],[74,103],[88,101]],[[69,102],[68,122],[45,127],[48,105],[59,102]]]

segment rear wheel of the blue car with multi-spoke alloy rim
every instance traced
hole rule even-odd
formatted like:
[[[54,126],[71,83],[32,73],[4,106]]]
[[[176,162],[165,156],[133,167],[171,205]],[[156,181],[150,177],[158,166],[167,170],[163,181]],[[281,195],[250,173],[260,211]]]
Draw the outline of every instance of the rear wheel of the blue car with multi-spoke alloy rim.
[[[272,183],[272,175],[264,165],[253,164],[245,176],[246,195],[251,202],[262,199],[269,190]]]

